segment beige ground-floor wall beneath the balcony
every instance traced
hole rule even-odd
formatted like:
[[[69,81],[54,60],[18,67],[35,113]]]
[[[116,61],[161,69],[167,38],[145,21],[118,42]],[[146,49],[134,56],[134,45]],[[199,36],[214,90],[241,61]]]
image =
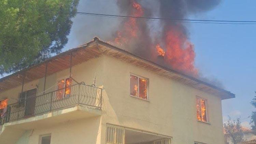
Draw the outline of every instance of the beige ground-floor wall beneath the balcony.
[[[100,128],[100,117],[66,121],[54,127],[28,130],[16,144],[38,144],[45,134],[51,134],[51,144],[100,144]]]

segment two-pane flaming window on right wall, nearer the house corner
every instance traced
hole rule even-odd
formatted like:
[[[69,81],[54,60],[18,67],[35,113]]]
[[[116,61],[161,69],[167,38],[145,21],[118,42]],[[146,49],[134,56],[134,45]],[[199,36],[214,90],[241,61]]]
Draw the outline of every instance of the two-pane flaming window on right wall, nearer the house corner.
[[[148,80],[139,76],[130,74],[130,95],[147,99]]]

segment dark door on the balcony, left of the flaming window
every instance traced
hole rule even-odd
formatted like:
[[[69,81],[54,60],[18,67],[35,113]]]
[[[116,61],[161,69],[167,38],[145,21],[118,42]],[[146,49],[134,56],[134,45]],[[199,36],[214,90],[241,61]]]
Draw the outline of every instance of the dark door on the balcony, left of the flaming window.
[[[26,100],[25,100],[25,117],[30,117],[34,115],[35,111],[35,100],[37,96],[37,88],[30,89],[26,91]]]

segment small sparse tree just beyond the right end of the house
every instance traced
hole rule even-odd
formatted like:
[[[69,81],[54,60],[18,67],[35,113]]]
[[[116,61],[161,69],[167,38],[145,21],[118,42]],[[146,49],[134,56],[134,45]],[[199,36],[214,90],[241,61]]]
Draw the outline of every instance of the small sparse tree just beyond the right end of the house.
[[[228,116],[227,123],[224,123],[224,131],[228,134],[233,144],[243,141],[243,131],[240,118],[232,120],[231,117]]]

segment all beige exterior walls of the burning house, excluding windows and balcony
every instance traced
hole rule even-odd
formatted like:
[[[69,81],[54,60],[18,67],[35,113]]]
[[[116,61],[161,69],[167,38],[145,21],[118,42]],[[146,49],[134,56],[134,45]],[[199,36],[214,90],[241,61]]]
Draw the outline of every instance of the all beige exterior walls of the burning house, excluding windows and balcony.
[[[149,79],[148,101],[130,96],[130,73]],[[224,143],[221,98],[217,96],[109,56],[76,65],[72,74],[86,84],[93,84],[96,75],[97,87],[104,87],[102,116],[27,131],[17,144],[38,143],[39,135],[47,133],[52,134],[52,144],[105,144],[106,124],[171,136],[173,144]],[[69,69],[47,76],[46,89],[56,90],[57,81],[65,77],[69,77]],[[44,78],[26,83],[24,90],[36,85],[42,92]],[[9,104],[17,102],[20,91],[21,86],[2,92],[0,100],[8,97]],[[207,100],[209,123],[196,119],[196,96]]]

